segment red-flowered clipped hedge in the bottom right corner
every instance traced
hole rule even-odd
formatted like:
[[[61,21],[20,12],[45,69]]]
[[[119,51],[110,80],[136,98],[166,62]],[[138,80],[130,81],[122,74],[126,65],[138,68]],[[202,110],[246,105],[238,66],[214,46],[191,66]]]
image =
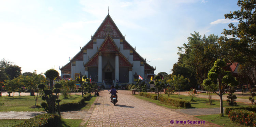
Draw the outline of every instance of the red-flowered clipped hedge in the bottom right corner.
[[[228,117],[233,122],[256,127],[256,113],[253,111],[235,109],[229,112]]]

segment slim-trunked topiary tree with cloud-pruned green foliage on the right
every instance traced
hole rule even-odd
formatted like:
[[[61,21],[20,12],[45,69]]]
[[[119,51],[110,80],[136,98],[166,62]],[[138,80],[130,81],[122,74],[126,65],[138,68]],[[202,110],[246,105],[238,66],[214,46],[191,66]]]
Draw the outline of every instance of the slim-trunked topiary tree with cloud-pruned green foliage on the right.
[[[218,87],[219,91],[213,91],[220,98],[221,105],[221,115],[223,116],[223,94],[232,86],[237,85],[238,81],[236,78],[231,76],[230,71],[226,71],[224,68],[227,66],[224,60],[217,59],[214,62],[214,66],[208,73],[208,78],[203,80],[203,86],[207,86],[210,89],[214,90],[215,87]]]

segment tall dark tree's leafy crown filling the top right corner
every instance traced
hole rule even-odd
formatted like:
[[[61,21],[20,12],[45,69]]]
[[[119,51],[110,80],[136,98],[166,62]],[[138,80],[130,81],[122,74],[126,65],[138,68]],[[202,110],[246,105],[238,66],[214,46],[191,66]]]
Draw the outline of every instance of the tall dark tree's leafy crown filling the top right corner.
[[[230,23],[230,29],[224,29],[225,35],[219,38],[219,44],[223,49],[223,56],[230,63],[249,62],[256,65],[256,1],[238,0],[238,11],[225,14],[226,19],[239,21],[238,25]],[[228,38],[228,37],[231,38]]]

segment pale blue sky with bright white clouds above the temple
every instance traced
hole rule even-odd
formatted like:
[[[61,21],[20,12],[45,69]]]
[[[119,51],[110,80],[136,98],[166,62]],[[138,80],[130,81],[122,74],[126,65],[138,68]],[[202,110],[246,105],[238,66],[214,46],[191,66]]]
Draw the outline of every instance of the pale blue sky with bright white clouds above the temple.
[[[59,71],[109,14],[126,40],[153,67],[171,73],[191,33],[223,36],[236,0],[1,0],[0,59],[22,73]]]

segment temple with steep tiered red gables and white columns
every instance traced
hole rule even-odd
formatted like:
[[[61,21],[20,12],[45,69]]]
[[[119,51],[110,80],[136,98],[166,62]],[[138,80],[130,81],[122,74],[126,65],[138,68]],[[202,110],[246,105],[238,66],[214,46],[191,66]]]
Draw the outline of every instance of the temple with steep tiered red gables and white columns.
[[[61,78],[87,75],[95,82],[104,82],[106,87],[114,81],[132,83],[140,75],[150,79],[155,68],[148,65],[126,40],[108,14],[91,40],[60,68]]]

